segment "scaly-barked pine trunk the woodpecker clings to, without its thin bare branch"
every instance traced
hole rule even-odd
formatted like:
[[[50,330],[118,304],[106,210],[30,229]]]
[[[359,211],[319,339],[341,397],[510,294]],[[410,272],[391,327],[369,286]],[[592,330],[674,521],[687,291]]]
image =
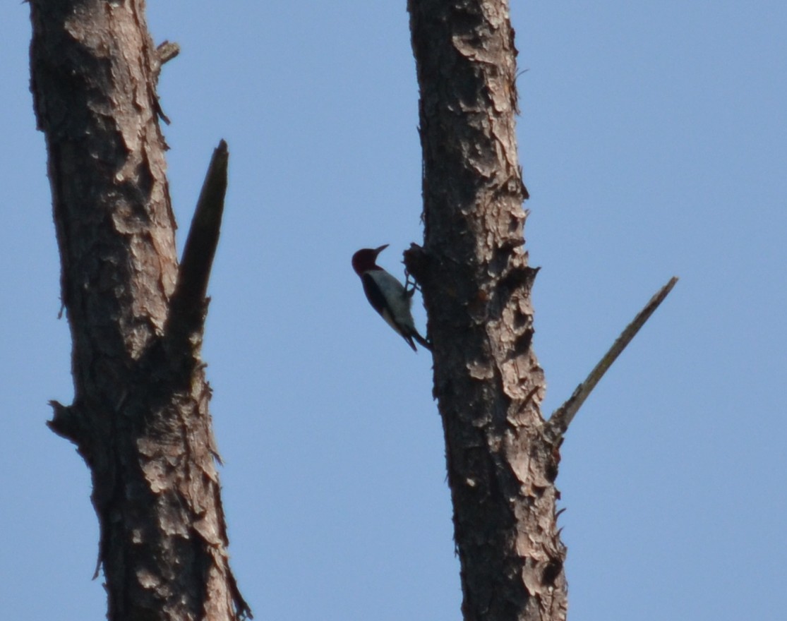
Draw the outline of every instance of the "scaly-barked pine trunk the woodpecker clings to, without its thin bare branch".
[[[503,0],[409,0],[423,249],[405,253],[434,344],[466,621],[566,616],[565,548],[531,348],[514,31]],[[559,442],[558,442],[559,444]]]

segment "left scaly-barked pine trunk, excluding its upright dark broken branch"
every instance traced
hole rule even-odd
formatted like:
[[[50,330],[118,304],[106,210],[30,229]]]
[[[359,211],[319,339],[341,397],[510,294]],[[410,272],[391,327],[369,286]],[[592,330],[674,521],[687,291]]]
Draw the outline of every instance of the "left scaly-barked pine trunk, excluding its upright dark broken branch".
[[[75,399],[53,404],[50,426],[91,468],[109,619],[237,619],[249,610],[227,560],[199,354],[206,302],[197,323],[170,311],[176,224],[144,9],[31,0],[31,90],[73,338]]]

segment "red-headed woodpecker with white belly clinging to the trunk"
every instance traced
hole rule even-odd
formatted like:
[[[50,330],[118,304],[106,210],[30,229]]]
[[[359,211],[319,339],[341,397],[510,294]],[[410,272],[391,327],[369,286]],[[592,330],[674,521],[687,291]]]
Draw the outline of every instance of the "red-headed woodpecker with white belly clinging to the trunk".
[[[364,248],[353,254],[353,269],[364,284],[364,294],[371,307],[380,313],[382,319],[397,331],[398,335],[416,351],[416,339],[419,345],[431,351],[431,343],[418,334],[416,324],[412,320],[412,294],[414,290],[406,290],[396,278],[377,264],[377,255],[388,247]]]

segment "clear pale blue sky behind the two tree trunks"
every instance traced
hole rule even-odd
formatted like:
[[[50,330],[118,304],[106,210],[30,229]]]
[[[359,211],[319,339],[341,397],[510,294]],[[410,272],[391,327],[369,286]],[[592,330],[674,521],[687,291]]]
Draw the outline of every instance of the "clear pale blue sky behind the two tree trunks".
[[[183,48],[161,77],[181,244],[212,148],[231,150],[205,359],[243,593],[258,619],[459,619],[430,357],[349,264],[387,242],[398,272],[422,238],[404,0],[149,13]],[[563,445],[570,618],[782,618],[787,4],[513,17],[545,411],[681,277]],[[2,3],[0,23],[0,612],[102,619],[87,467],[44,425],[72,384],[28,6]]]

